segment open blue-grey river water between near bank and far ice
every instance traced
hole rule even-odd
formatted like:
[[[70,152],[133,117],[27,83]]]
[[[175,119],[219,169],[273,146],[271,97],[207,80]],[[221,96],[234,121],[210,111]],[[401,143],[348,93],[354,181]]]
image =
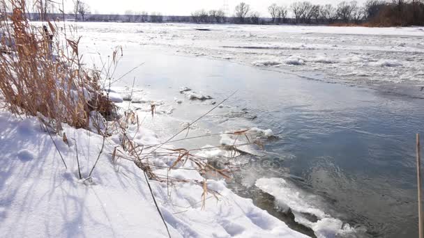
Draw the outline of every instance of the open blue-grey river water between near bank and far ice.
[[[278,138],[266,141],[266,154],[259,160],[267,166],[250,163],[242,167],[236,173],[239,182],[230,186],[292,228],[313,235],[309,228],[296,225],[292,214],[281,212],[277,198],[255,186],[258,179],[283,178],[290,191],[299,192],[305,202],[357,230],[365,228],[359,237],[418,234],[414,146],[415,134],[424,132],[424,101],[408,95],[409,91],[417,95],[416,88],[406,87],[406,93],[399,95],[391,93],[395,84],[381,86],[381,90],[329,84],[319,80],[325,79],[325,74],[305,72],[309,78],[305,79],[289,71],[175,56],[154,47],[124,49],[117,74],[139,63],[144,65],[118,84],[131,86],[135,77],[135,87],[143,88],[145,97],[170,102],[173,110],[169,115],[156,119],[165,123],[155,124],[162,127],[165,136],[234,91],[225,106],[197,122],[197,132],[193,129],[192,133],[272,129]],[[214,99],[187,100],[179,93],[181,86]],[[184,102],[171,103],[175,98]],[[167,118],[179,120],[170,122]],[[208,140],[196,143],[214,143]]]

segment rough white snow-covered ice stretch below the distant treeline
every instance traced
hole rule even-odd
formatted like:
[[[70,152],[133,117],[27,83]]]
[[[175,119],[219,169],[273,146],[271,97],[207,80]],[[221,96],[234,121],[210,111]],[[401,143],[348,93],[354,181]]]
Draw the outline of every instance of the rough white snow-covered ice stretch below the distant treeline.
[[[348,84],[424,81],[424,28],[82,23],[87,45],[139,44]],[[208,29],[210,31],[197,31]],[[310,76],[309,76],[310,77]]]

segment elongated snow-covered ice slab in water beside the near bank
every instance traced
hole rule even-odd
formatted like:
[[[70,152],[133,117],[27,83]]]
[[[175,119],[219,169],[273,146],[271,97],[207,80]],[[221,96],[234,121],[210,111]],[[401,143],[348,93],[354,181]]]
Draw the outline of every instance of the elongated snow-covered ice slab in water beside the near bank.
[[[282,178],[261,178],[256,181],[256,187],[275,197],[276,205],[282,209],[292,209],[295,221],[314,230],[318,238],[345,237],[356,232],[349,224],[331,217],[319,209],[316,196],[305,193]],[[309,215],[308,215],[309,214]],[[315,216],[317,221],[308,217]]]

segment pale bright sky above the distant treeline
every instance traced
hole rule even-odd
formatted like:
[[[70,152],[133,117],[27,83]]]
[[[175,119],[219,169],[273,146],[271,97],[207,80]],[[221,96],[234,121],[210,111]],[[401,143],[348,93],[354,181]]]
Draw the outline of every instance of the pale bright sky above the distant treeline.
[[[71,9],[72,0],[66,0],[67,8]],[[82,0],[84,1],[84,0]],[[242,0],[227,0],[229,13],[234,14],[235,6]],[[244,0],[250,4],[252,10],[259,12],[262,16],[268,16],[268,6],[271,3],[289,6],[296,0]],[[340,3],[341,0],[310,0],[311,3]],[[363,3],[365,0],[357,0]],[[92,13],[119,13],[123,14],[126,10],[160,12],[163,15],[190,15],[195,10],[220,9],[224,6],[224,0],[85,0],[91,7]],[[66,9],[68,12],[69,10]]]

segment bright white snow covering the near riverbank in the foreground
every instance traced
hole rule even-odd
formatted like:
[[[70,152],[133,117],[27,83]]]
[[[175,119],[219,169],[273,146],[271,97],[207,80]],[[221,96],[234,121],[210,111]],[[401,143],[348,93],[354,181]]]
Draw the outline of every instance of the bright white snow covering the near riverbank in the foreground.
[[[0,112],[0,127],[2,237],[167,237],[142,170],[131,161],[111,161],[117,136],[107,139],[89,182],[84,178],[103,141],[98,134],[63,125],[66,145],[61,136],[50,138],[36,118],[20,120],[8,112]],[[160,138],[142,128],[135,141],[154,144]],[[169,176],[203,180],[195,170],[171,170]],[[206,199],[202,210],[201,186],[176,183],[169,187],[169,198],[166,183],[151,181],[172,237],[306,237],[255,207],[252,200],[236,196],[224,181],[208,180],[207,186],[220,196]]]

